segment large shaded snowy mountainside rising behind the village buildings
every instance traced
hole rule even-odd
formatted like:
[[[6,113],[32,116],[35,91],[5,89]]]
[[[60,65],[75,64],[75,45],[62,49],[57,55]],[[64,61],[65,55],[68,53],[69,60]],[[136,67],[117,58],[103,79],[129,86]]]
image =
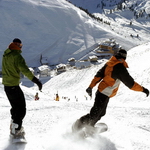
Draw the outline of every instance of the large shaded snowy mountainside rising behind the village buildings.
[[[78,60],[108,38],[128,50],[149,41],[145,24],[137,24],[136,29],[124,27],[129,16],[118,12],[113,20],[113,14],[111,18],[104,15],[104,21],[112,20],[112,25],[107,25],[66,0],[1,0],[0,55],[16,37],[23,42],[22,54],[30,67],[41,65],[41,56],[47,57],[50,65],[66,63],[71,57]],[[140,34],[140,38],[131,37],[131,33]]]

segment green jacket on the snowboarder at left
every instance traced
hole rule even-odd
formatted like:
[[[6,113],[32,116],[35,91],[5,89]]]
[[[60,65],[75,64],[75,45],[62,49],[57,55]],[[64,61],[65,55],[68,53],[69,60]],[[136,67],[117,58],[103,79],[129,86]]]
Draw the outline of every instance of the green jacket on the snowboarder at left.
[[[34,75],[29,70],[21,50],[6,49],[2,59],[2,84],[5,86],[18,86],[20,83],[20,73],[30,80]]]

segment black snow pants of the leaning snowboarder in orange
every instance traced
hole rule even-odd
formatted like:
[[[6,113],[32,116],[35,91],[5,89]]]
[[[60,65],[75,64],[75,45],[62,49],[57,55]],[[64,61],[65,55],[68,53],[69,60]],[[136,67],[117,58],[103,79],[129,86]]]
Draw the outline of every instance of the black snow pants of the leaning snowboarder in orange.
[[[98,90],[95,95],[95,102],[90,110],[90,113],[82,116],[80,122],[82,125],[94,126],[102,116],[106,114],[107,104],[109,102],[109,97],[100,93]]]

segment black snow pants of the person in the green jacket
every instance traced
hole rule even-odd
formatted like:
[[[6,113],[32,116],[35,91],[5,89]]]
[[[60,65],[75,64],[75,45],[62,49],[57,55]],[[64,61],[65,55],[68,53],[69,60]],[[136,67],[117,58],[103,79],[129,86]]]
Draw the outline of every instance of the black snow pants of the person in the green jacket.
[[[19,125],[17,130],[20,130],[22,120],[26,115],[24,94],[19,86],[4,86],[4,90],[11,105],[11,119],[13,120],[13,123]]]

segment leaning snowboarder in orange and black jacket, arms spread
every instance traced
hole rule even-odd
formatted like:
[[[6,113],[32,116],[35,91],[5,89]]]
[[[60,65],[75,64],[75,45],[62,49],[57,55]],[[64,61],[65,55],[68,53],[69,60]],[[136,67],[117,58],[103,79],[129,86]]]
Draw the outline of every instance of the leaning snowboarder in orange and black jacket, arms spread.
[[[147,96],[149,95],[149,90],[139,85],[130,76],[126,69],[128,68],[125,61],[126,56],[126,50],[119,50],[97,72],[89,87],[86,89],[89,96],[92,96],[92,88],[99,83],[94,105],[88,114],[82,116],[73,124],[72,129],[74,131],[78,131],[85,126],[94,127],[97,121],[106,114],[109,98],[116,95],[120,82],[123,82],[131,90],[144,92]]]

